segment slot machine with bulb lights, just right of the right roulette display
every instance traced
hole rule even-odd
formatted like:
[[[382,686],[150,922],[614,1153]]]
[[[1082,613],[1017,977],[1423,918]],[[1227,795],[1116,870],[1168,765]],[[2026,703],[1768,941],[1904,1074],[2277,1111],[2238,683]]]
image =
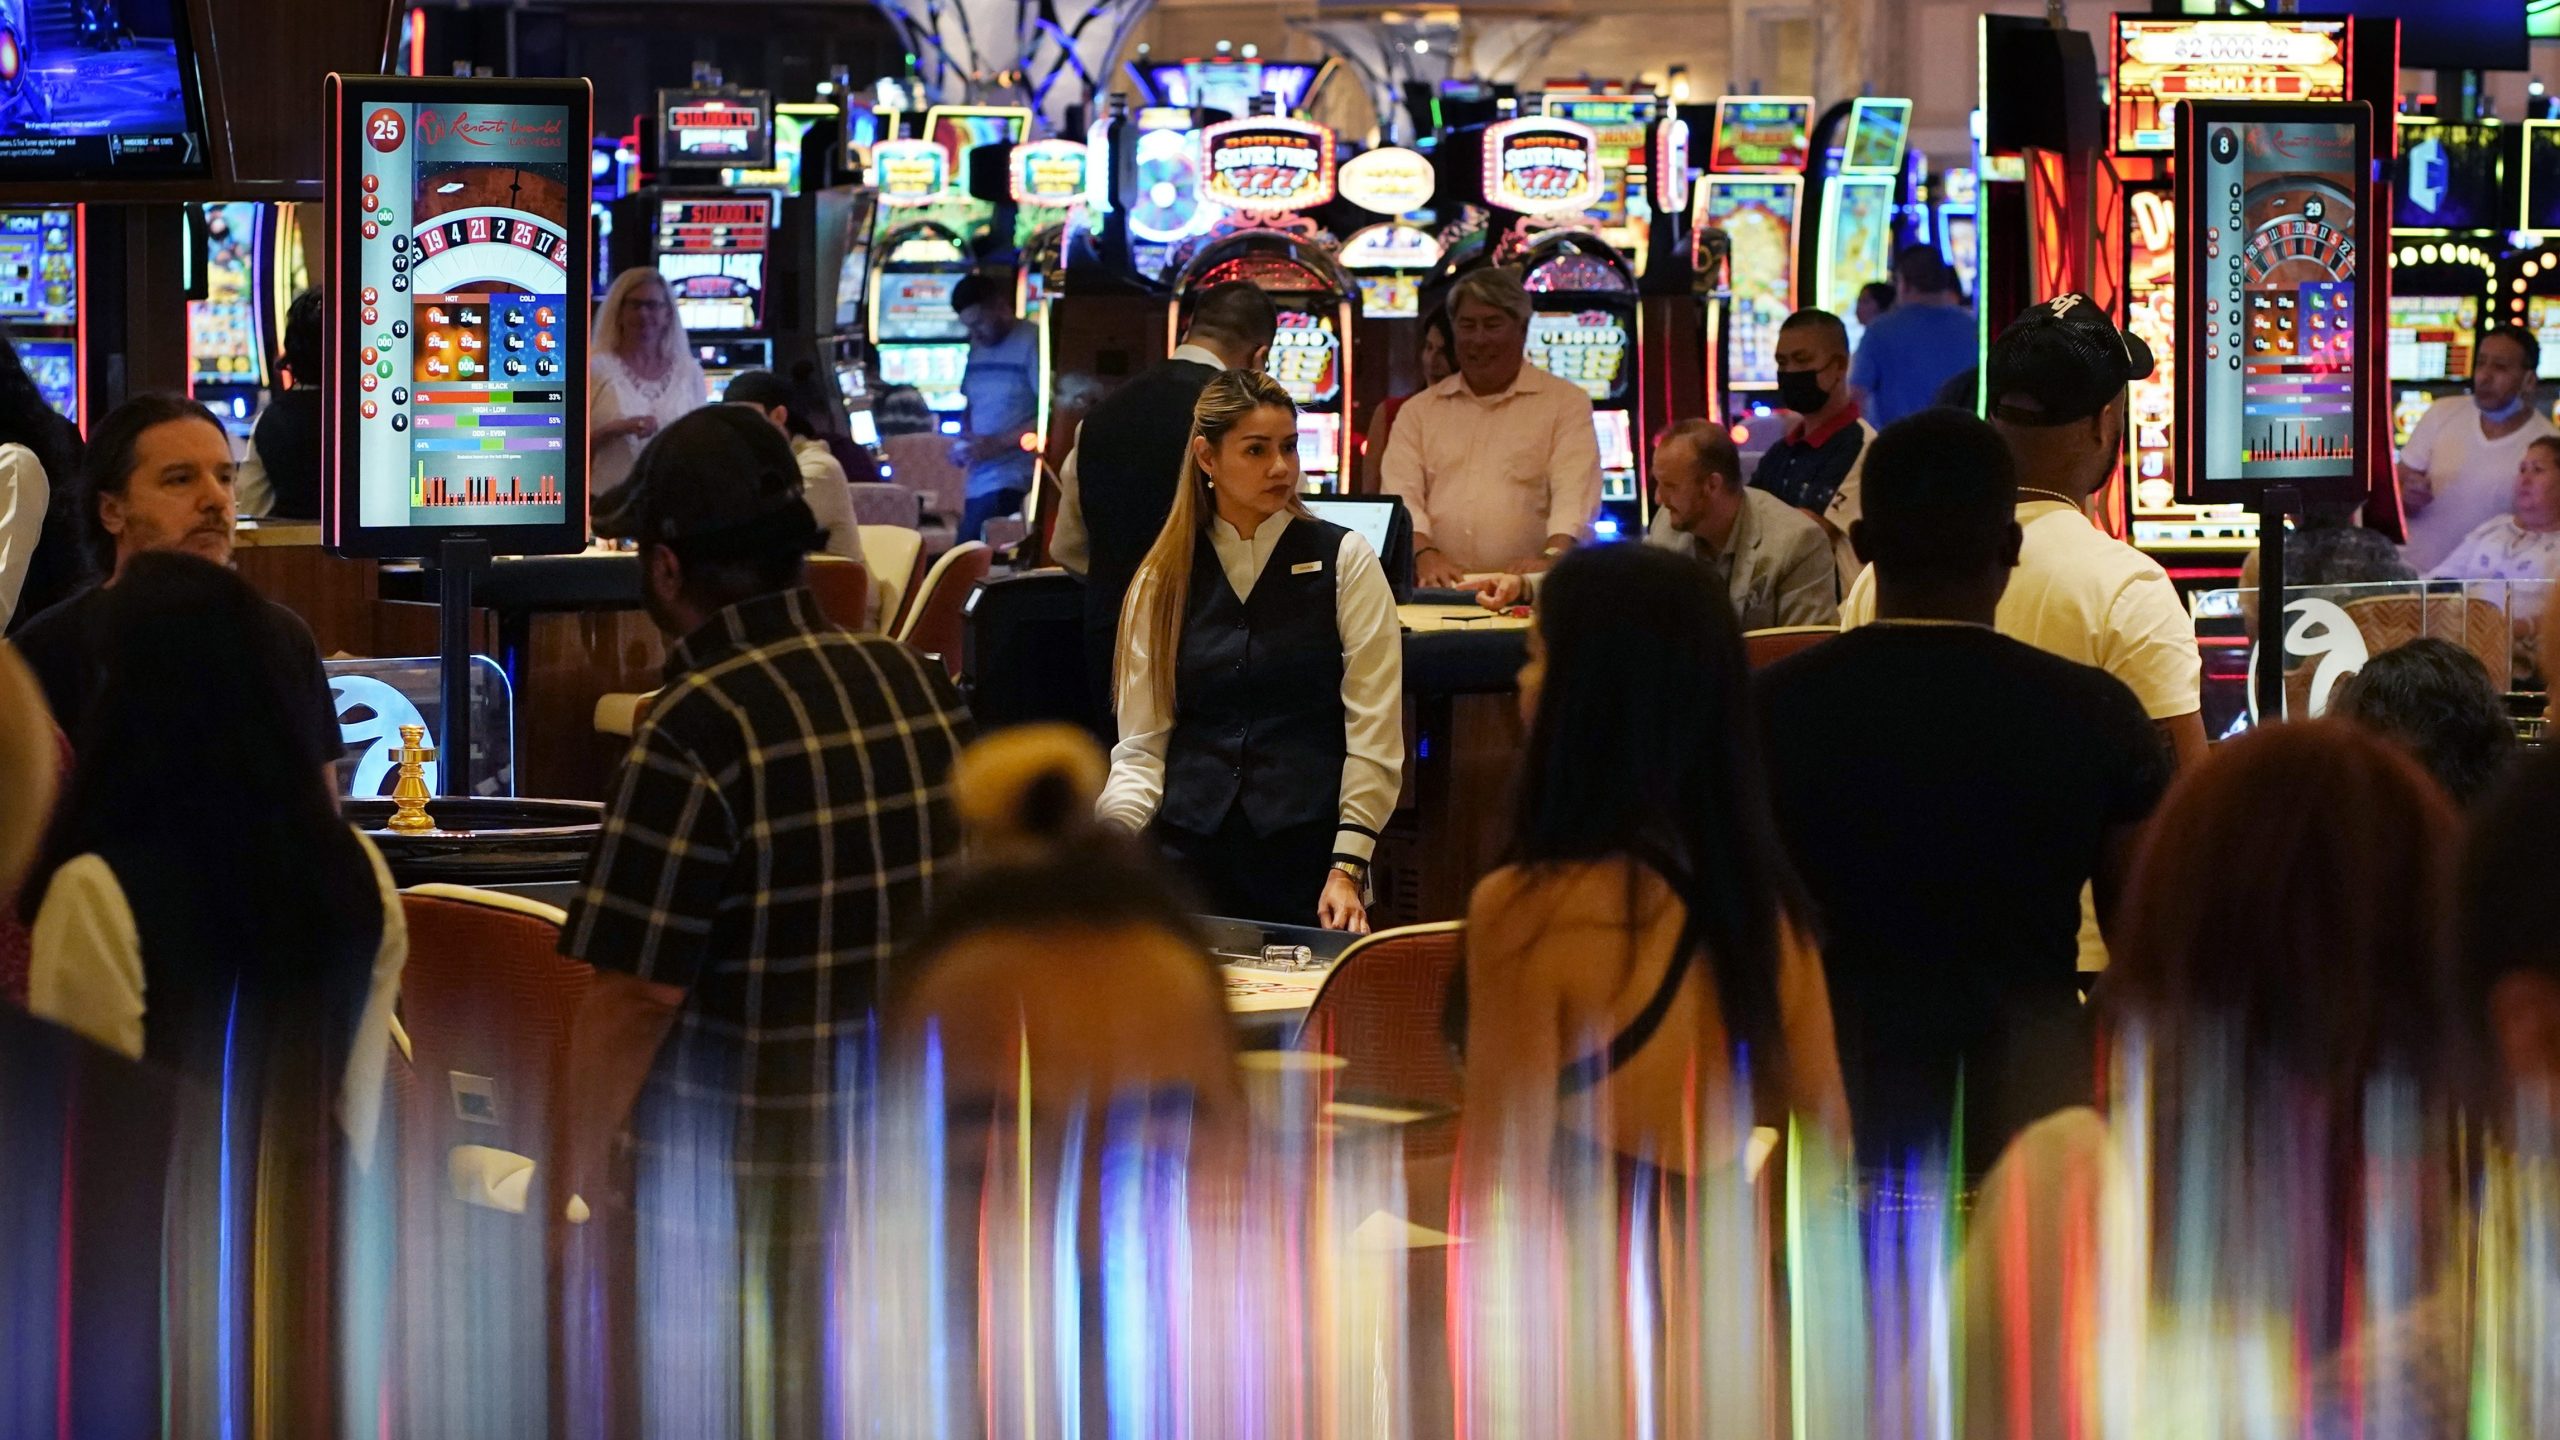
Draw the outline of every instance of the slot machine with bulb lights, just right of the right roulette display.
[[[2391,443],[2445,395],[2470,389],[2470,356],[2496,323],[2499,259],[2522,220],[2516,126],[2399,115],[2391,167]]]

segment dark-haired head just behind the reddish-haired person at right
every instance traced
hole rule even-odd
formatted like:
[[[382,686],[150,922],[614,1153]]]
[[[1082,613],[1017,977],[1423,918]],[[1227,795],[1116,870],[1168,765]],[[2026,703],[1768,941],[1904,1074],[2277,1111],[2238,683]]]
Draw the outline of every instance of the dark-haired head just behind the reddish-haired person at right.
[[[2488,666],[2442,635],[2419,635],[2368,659],[2330,697],[2330,715],[2404,746],[2463,810],[2478,805],[2516,761],[2516,723]]]

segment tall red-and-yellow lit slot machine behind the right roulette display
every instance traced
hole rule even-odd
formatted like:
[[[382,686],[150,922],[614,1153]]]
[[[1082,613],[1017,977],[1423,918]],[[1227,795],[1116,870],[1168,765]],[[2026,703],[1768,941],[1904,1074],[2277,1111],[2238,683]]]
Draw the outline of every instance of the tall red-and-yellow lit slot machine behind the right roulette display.
[[[2148,15],[2115,18],[2115,108],[2109,113],[2109,167],[2120,177],[2117,225],[2122,231],[2125,325],[2150,343],[2156,372],[2135,382],[2125,418],[2125,464],[2115,528],[2135,548],[2158,559],[2181,587],[2227,584],[2240,574],[2240,556],[2258,546],[2258,518],[2243,505],[2204,505],[2181,479],[2184,441],[2179,436],[2179,377],[2189,364],[2181,354],[2184,328],[2176,290],[2179,225],[2176,141],[2179,97],[2291,92],[2317,100],[2348,95],[2345,20],[2168,20]],[[2314,210],[2327,210],[2314,202]],[[2330,249],[2342,241],[2353,264],[2353,236],[2324,225],[2319,213],[2294,218],[2304,249]],[[2273,256],[2296,238],[2266,236],[2266,264],[2294,261]],[[2332,256],[2335,259],[2335,256]],[[2322,264],[2312,256],[2304,266]],[[2115,510],[2109,505],[2109,510]]]

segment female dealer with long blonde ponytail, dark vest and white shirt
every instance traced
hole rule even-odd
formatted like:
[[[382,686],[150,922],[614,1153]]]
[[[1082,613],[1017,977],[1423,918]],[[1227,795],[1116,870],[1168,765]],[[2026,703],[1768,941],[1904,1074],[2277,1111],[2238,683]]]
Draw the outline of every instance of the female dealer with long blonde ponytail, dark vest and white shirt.
[[[1280,382],[1208,382],[1121,610],[1101,817],[1149,833],[1219,915],[1367,933],[1405,764],[1403,635],[1377,553],[1298,487]]]

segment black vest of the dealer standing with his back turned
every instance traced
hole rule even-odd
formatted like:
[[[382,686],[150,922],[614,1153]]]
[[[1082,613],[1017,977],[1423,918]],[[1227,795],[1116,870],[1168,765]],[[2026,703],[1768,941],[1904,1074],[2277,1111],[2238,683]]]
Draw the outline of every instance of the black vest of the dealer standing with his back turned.
[[[1103,397],[1075,438],[1075,489],[1083,497],[1091,564],[1085,618],[1119,618],[1129,579],[1172,515],[1172,487],[1190,443],[1190,407],[1219,372],[1160,361]]]

